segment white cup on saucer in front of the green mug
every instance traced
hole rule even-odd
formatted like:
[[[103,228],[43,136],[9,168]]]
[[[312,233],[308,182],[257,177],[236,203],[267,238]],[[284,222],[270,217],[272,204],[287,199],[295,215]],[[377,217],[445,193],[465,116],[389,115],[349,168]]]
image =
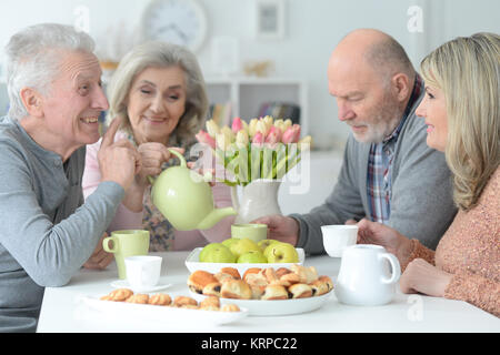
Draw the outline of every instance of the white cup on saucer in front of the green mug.
[[[160,280],[161,256],[136,255],[124,258],[127,281],[132,288],[153,287]]]

